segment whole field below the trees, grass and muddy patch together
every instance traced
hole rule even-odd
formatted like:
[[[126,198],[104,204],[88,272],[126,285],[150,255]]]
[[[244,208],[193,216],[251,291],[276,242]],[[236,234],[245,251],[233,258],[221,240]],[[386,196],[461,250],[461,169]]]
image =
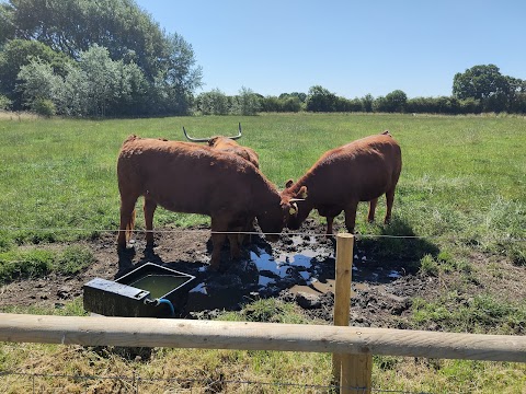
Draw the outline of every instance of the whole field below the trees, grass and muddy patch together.
[[[238,121],[239,142],[259,153],[263,173],[279,188],[328,149],[386,129],[399,141],[403,169],[392,223],[381,224],[384,198],[376,223],[366,223],[365,204],[357,215],[353,325],[526,335],[526,121],[504,116],[0,117],[0,311],[82,314],[82,285],[117,275],[115,163],[128,135],[184,140],[183,126],[195,137],[235,135]],[[242,262],[225,260],[215,274],[206,270],[207,217],[158,209],[155,229],[160,230],[155,255],[144,255],[138,231],[133,264],[149,258],[184,268],[229,300],[214,304],[196,293],[187,316],[330,323],[334,256],[332,242],[321,236],[324,219],[311,215],[299,232],[285,231],[276,244],[256,237]],[[342,217],[335,230],[344,231]],[[273,270],[273,262],[283,263],[287,274]],[[232,283],[239,291],[225,292]],[[309,288],[320,302],[301,309],[305,300],[298,294]],[[59,369],[60,360],[75,360],[81,374],[126,374],[126,366],[165,378],[191,376],[181,366],[194,362],[204,379],[233,371],[237,381],[330,384],[327,355],[286,355],[278,361],[270,352],[159,349],[128,360],[104,351],[79,348],[57,357],[64,354],[60,347],[4,345],[0,369],[42,373]],[[375,358],[375,389],[521,393],[525,382],[524,363]],[[10,384],[0,376],[2,390]]]

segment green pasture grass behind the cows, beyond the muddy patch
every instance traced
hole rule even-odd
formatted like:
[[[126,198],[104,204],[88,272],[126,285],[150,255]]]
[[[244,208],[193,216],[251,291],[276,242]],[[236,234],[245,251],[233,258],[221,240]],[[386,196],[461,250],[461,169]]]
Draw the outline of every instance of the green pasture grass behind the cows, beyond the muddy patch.
[[[297,114],[0,119],[0,229],[21,229],[0,240],[54,242],[115,230],[115,163],[126,136],[183,140],[182,126],[199,137],[233,134],[238,121],[244,130],[240,142],[259,152],[262,171],[279,187],[288,178],[298,178],[325,150],[389,129],[403,153],[395,218],[412,233],[478,243],[488,251],[525,237],[525,119]],[[382,209],[380,204],[380,218]],[[207,218],[163,210],[156,215],[156,225],[195,222],[206,223]],[[363,216],[358,230],[369,230]],[[521,250],[513,255],[521,260]]]

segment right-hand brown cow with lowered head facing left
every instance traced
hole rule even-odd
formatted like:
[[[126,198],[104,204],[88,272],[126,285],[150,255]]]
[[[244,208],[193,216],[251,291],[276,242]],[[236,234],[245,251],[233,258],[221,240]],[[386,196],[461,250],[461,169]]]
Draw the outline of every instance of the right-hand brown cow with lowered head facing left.
[[[387,199],[385,222],[391,218],[395,188],[402,169],[400,146],[388,131],[366,137],[325,152],[296,183],[288,181],[285,193],[304,186],[308,197],[287,227],[297,230],[312,209],[327,217],[327,234],[332,234],[334,217],[345,211],[345,227],[354,232],[359,201],[369,201],[368,220],[375,220],[378,197]]]

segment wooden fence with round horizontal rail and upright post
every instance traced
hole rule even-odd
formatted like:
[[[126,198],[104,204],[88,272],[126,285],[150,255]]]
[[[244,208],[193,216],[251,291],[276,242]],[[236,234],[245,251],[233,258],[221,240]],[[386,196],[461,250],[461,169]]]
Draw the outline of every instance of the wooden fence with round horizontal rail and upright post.
[[[364,393],[373,355],[526,362],[526,336],[350,327],[353,243],[338,235],[334,326],[0,313],[0,341],[331,352],[342,391]]]

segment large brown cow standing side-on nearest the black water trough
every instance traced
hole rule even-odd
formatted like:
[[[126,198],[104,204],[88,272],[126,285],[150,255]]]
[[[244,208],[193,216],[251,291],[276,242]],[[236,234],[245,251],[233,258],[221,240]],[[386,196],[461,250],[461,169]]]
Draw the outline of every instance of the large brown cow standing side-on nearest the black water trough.
[[[227,231],[240,231],[247,218],[258,218],[270,241],[297,213],[288,193],[279,193],[248,161],[191,142],[128,137],[117,160],[121,193],[118,250],[125,250],[134,228],[135,204],[144,196],[146,241],[153,245],[153,213],[158,205],[176,212],[211,217],[214,244],[210,267],[219,266]],[[304,190],[305,192],[305,190]],[[228,234],[232,257],[239,256],[237,234]]]

